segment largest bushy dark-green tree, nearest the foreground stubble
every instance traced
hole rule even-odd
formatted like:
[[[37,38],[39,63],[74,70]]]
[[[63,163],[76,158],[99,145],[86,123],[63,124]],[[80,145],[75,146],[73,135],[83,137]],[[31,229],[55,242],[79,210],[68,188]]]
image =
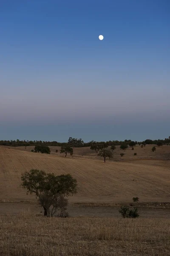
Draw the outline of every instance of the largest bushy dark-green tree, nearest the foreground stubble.
[[[65,209],[67,197],[77,193],[77,180],[70,174],[56,176],[44,171],[31,169],[21,176],[21,186],[28,193],[35,193],[39,204],[44,208],[44,215],[54,216],[57,209]]]

